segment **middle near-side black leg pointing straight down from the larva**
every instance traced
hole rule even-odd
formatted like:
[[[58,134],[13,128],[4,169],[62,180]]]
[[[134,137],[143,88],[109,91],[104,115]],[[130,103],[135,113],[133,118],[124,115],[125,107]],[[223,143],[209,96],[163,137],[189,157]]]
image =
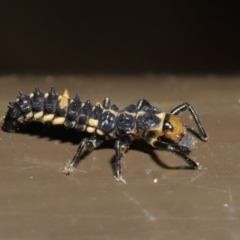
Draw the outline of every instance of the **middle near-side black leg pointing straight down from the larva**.
[[[121,169],[121,158],[124,155],[124,153],[126,153],[128,147],[130,144],[130,140],[129,139],[123,139],[121,140],[116,140],[115,141],[115,145],[114,148],[116,150],[116,156],[115,156],[115,160],[114,160],[114,177],[117,181],[123,182],[126,184],[126,181],[123,179],[121,173],[122,173],[122,169]]]

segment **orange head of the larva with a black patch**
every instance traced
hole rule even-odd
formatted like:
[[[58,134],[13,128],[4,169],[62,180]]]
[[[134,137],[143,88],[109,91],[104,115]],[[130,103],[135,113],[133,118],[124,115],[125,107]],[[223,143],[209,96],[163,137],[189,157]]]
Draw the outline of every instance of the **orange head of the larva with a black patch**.
[[[174,142],[179,142],[186,134],[186,128],[179,118],[167,114],[163,123],[164,136]]]

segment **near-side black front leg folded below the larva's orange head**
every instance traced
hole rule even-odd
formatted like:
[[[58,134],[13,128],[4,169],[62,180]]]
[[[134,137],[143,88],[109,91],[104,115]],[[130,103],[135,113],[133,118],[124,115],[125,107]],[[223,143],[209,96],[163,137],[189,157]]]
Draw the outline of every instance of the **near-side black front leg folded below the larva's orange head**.
[[[158,149],[163,149],[163,150],[167,150],[175,153],[189,165],[189,166],[171,167],[171,169],[191,169],[191,170],[198,169],[197,163],[195,163],[193,160],[191,160],[189,157],[186,156],[186,154],[190,152],[190,150],[187,147],[179,146],[174,143],[167,143],[167,142],[160,142],[160,141],[155,141],[153,143],[153,146]]]

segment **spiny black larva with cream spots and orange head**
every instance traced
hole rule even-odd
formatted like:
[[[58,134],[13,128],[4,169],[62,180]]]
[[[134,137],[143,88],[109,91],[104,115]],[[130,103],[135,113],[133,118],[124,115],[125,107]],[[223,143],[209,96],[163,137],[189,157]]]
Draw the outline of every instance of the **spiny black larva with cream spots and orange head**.
[[[78,95],[71,99],[67,89],[62,95],[58,95],[54,87],[43,93],[36,86],[30,95],[19,91],[16,101],[9,102],[2,128],[7,132],[14,132],[22,123],[41,121],[50,122],[52,125],[63,124],[66,128],[88,132],[90,137],[82,139],[74,157],[65,166],[63,173],[66,175],[73,171],[85,151],[92,151],[104,141],[113,139],[116,151],[114,177],[117,181],[125,183],[121,174],[121,158],[131,142],[139,138],[154,148],[175,153],[188,164],[175,169],[198,168],[198,164],[188,157],[196,140],[187,132],[189,128],[177,117],[185,110],[190,112],[197,125],[197,136],[207,141],[208,136],[203,125],[194,108],[188,103],[183,103],[166,113],[141,99],[137,104],[130,104],[120,110],[116,105],[110,104],[109,98],[92,105],[90,100],[82,102]]]

